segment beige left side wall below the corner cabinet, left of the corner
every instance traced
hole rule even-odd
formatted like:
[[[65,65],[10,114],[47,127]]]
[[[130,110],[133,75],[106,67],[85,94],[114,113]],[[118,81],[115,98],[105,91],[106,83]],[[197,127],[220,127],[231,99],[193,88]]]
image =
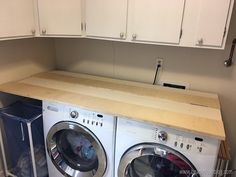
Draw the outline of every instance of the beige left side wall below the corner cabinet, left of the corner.
[[[19,80],[55,67],[52,39],[0,41],[0,84]],[[0,106],[14,97],[0,94]]]

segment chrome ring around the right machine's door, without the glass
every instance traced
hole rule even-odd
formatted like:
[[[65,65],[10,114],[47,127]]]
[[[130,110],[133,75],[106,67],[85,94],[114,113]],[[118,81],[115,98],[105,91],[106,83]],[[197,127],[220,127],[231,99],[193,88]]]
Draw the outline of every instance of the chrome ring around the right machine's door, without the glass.
[[[128,169],[132,161],[138,157],[147,155],[157,155],[165,158],[165,156],[168,155],[169,153],[176,155],[191,167],[191,169],[193,170],[193,174],[191,176],[200,177],[194,165],[184,155],[182,155],[181,153],[175,151],[170,147],[158,143],[137,144],[128,149],[121,157],[118,166],[118,177],[129,177]]]

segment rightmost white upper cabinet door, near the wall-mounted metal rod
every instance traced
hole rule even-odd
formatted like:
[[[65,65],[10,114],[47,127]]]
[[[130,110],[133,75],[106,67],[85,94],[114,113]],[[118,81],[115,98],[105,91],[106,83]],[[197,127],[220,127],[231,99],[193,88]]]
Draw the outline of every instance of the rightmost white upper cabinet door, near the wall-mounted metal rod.
[[[230,0],[199,0],[196,45],[221,46]]]

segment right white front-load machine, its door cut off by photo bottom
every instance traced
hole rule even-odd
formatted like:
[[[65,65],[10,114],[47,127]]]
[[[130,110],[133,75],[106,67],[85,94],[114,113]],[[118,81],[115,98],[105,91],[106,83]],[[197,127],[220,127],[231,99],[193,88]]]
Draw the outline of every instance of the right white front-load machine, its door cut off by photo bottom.
[[[118,117],[115,177],[212,177],[219,143],[209,137]]]

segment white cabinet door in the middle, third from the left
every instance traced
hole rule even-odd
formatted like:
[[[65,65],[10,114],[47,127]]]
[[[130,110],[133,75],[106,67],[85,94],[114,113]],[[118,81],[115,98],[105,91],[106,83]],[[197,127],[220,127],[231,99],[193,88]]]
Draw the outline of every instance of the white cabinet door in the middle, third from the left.
[[[127,0],[86,0],[86,35],[126,37]]]

